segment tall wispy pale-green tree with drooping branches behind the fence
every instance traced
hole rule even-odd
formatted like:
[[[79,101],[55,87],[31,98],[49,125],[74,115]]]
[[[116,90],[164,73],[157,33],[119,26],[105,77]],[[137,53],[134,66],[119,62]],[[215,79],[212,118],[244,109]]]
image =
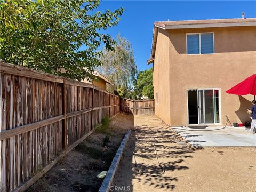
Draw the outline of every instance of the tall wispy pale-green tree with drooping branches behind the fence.
[[[108,86],[108,91],[113,92],[122,87],[125,91],[123,97],[130,98],[137,76],[137,65],[129,41],[118,35],[114,50],[103,49],[100,60],[103,64],[97,70],[113,82],[113,85]]]

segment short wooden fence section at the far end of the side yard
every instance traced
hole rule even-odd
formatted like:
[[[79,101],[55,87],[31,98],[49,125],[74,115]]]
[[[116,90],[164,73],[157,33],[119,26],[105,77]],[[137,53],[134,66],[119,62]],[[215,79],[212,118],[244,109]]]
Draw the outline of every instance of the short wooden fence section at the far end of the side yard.
[[[134,115],[153,115],[155,114],[155,101],[154,99],[148,100],[131,100],[121,99],[120,110],[125,113]]]

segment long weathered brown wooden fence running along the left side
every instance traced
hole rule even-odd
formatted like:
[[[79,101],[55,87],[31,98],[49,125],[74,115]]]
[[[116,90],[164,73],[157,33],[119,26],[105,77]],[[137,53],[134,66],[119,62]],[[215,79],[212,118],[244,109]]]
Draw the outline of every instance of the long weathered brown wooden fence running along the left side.
[[[92,84],[0,61],[0,191],[22,191],[119,113],[119,97]]]

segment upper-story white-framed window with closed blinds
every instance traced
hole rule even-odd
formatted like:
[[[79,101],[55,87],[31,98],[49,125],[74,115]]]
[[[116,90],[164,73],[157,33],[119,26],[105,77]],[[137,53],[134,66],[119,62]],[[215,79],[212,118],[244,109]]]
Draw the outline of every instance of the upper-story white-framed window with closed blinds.
[[[213,33],[187,34],[187,54],[213,54]]]

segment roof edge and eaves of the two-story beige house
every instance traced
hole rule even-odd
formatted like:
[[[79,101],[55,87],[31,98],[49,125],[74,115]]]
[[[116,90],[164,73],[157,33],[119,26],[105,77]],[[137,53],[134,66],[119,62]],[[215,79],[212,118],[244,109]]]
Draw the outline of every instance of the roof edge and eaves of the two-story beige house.
[[[147,63],[154,62],[158,28],[161,29],[189,29],[206,27],[236,27],[236,26],[256,26],[256,18],[240,19],[208,19],[189,21],[156,21],[154,22],[153,39],[150,59]]]

